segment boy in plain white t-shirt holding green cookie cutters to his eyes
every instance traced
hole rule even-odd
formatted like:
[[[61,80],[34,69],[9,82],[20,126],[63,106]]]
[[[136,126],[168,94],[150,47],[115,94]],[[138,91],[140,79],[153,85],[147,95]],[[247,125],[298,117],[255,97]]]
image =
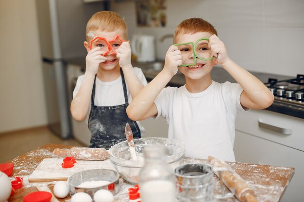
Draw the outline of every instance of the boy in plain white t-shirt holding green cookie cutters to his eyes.
[[[202,18],[181,22],[174,43],[166,53],[164,69],[133,98],[127,114],[132,120],[164,117],[168,137],[182,140],[188,157],[212,155],[235,161],[236,113],[269,107],[272,93],[228,57],[217,31]],[[211,70],[218,63],[237,83],[211,79]],[[164,89],[178,69],[185,75],[186,85]]]

